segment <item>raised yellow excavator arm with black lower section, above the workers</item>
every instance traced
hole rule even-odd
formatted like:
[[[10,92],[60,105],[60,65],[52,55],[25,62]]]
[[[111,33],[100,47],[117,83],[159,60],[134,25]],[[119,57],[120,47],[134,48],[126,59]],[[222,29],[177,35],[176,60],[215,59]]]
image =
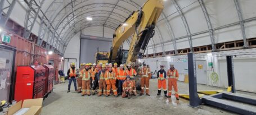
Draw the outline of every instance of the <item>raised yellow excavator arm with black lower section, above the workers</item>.
[[[109,53],[109,62],[115,61],[120,45],[133,35],[126,63],[136,62],[142,57],[150,38],[154,36],[156,22],[163,11],[163,0],[148,0],[127,20],[120,25],[113,34],[113,43]]]

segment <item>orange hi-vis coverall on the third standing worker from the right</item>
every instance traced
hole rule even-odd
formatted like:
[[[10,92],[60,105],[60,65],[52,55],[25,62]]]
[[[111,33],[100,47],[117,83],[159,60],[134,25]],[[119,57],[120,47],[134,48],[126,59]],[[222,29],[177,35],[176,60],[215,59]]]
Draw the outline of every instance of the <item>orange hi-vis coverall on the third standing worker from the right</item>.
[[[151,78],[150,68],[142,67],[140,71],[141,75],[141,94],[144,93],[144,88],[146,86],[146,93],[149,94],[149,80]]]

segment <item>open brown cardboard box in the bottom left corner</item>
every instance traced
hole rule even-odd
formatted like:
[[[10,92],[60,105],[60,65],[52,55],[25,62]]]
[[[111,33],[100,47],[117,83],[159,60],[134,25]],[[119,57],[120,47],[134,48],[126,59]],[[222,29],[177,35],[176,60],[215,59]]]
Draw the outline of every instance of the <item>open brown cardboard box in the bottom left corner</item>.
[[[12,107],[9,108],[8,115],[15,114],[20,109],[29,108],[24,114],[35,114],[39,115],[42,111],[43,98],[38,99],[26,99],[16,103]]]

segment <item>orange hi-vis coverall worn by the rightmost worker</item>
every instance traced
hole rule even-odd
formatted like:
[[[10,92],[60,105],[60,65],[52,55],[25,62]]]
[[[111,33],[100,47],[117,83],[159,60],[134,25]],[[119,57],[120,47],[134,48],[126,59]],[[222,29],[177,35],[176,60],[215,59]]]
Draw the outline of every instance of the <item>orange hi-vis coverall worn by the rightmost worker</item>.
[[[178,86],[177,86],[177,80],[179,77],[178,70],[176,70],[175,68],[174,70],[169,69],[167,71],[167,76],[169,77],[168,78],[168,96],[172,95],[172,87],[173,87],[176,98],[179,98]]]

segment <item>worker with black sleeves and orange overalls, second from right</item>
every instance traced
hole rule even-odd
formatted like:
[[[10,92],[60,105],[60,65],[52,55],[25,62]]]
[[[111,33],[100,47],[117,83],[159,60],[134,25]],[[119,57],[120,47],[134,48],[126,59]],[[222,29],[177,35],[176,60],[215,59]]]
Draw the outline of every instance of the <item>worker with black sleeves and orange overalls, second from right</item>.
[[[160,70],[158,71],[158,94],[161,95],[161,88],[164,90],[164,96],[168,98],[167,96],[167,88],[166,88],[166,71],[164,70],[164,66],[160,66]]]

